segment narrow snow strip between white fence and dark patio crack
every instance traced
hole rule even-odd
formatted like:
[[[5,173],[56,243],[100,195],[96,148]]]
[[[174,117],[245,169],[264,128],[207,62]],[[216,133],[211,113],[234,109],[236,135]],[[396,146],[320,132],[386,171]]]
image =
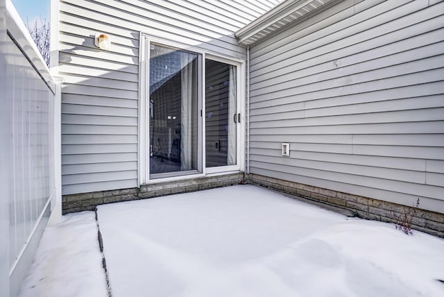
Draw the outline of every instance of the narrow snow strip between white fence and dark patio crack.
[[[44,230],[19,297],[107,297],[94,212],[63,216]]]

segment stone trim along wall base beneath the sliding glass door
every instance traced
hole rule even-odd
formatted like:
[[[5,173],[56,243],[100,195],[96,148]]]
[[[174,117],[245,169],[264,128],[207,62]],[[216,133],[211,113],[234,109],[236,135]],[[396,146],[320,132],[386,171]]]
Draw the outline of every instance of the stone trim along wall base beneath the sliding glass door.
[[[121,201],[153,198],[171,194],[213,189],[244,182],[244,173],[232,173],[221,176],[176,180],[166,183],[142,185],[139,188],[115,189],[110,191],[89,192],[62,196],[62,214],[95,210],[97,205]]]

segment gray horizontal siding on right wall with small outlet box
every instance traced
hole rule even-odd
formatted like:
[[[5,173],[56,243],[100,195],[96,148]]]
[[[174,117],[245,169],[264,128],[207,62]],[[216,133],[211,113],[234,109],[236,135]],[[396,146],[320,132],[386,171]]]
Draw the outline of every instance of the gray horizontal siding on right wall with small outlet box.
[[[250,49],[250,172],[444,212],[444,3],[338,7]]]

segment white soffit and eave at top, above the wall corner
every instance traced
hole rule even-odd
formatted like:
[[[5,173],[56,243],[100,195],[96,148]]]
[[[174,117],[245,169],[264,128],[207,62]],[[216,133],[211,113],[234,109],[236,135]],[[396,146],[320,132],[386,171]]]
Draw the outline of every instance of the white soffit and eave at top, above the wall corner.
[[[241,44],[253,44],[335,0],[287,0],[236,32]]]

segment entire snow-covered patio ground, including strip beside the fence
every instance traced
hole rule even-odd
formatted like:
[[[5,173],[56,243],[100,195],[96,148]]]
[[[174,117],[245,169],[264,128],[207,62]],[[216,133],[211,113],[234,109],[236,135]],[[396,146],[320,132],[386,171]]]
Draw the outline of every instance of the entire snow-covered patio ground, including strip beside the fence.
[[[444,296],[444,240],[253,185],[101,205],[46,228],[20,296]]]

